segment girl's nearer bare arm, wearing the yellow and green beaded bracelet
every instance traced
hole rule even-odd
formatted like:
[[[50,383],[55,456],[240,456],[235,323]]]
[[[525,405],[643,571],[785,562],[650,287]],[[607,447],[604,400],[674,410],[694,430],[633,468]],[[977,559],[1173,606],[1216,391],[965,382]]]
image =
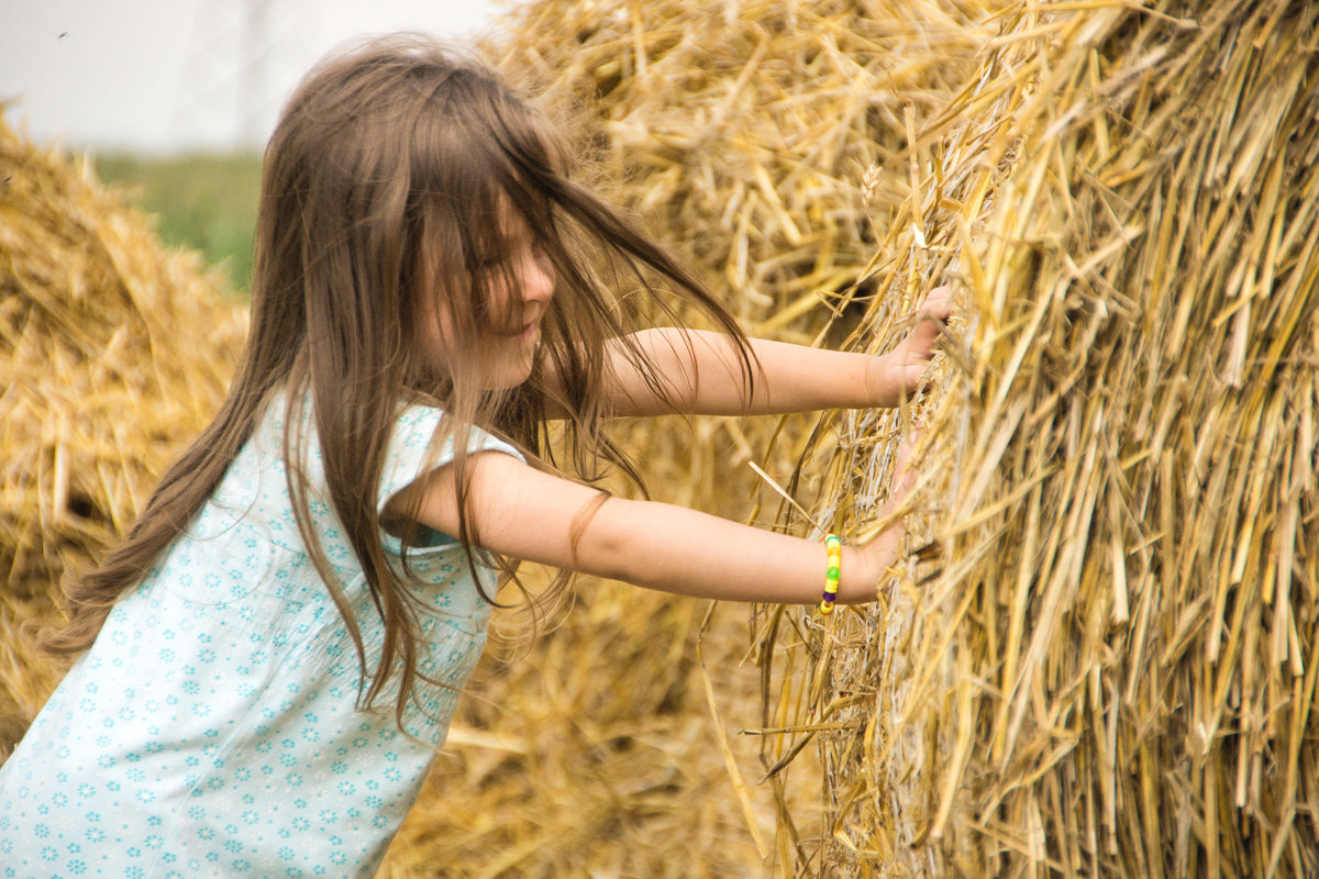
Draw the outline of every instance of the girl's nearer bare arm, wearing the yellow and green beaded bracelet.
[[[826,568],[819,542],[669,503],[605,497],[500,452],[472,456],[468,477],[468,511],[485,550],[685,596],[819,601]],[[452,467],[418,480],[386,507],[406,509],[417,509],[422,525],[458,534]],[[839,604],[874,600],[900,539],[894,526],[864,546],[844,547]]]

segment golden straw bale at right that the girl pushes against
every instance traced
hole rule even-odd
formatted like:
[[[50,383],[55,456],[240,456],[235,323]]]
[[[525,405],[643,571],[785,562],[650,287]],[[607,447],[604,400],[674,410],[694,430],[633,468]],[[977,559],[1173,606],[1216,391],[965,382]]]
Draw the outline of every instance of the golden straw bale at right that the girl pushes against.
[[[909,153],[938,561],[803,651],[802,875],[1319,875],[1319,7],[1150,5],[1018,4]],[[836,424],[851,530],[894,419]]]

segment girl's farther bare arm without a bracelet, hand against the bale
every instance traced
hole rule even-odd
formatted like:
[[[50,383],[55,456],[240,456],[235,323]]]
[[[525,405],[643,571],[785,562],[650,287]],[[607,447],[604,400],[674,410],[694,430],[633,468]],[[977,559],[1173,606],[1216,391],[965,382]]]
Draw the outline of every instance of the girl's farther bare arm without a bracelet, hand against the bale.
[[[951,293],[938,287],[921,307],[917,326],[885,354],[826,351],[752,339],[753,391],[748,394],[741,358],[724,333],[646,329],[632,336],[667,386],[665,401],[628,357],[627,345],[609,352],[605,406],[613,415],[777,415],[820,409],[897,406],[915,391],[951,312]]]

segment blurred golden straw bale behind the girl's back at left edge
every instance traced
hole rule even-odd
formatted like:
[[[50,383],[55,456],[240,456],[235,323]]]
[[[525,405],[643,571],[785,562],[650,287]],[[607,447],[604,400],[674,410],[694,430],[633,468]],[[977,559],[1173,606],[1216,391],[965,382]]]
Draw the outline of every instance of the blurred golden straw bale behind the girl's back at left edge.
[[[0,754],[62,667],[26,621],[132,522],[219,403],[243,312],[90,169],[0,119]]]

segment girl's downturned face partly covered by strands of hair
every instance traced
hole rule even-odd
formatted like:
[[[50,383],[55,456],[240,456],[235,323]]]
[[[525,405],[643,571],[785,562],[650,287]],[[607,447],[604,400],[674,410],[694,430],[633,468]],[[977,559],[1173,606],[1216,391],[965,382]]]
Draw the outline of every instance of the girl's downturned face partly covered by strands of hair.
[[[539,237],[526,220],[513,210],[501,219],[503,249],[481,260],[481,277],[472,282],[484,286],[489,298],[481,329],[475,339],[474,368],[485,390],[504,390],[521,385],[532,374],[536,349],[541,343],[541,318],[554,298],[554,266],[541,246]],[[423,331],[429,353],[445,373],[454,370],[452,312],[437,297]]]

